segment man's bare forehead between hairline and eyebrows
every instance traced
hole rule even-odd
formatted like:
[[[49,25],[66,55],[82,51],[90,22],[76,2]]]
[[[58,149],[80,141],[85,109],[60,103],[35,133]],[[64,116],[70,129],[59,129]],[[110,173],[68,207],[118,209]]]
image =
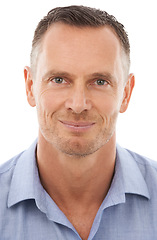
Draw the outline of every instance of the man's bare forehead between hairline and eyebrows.
[[[42,58],[56,59],[60,63],[73,60],[104,61],[107,57],[120,56],[121,46],[115,34],[105,27],[78,28],[66,24],[54,24],[41,43]],[[97,60],[96,60],[97,58]],[[95,59],[95,60],[94,60]]]

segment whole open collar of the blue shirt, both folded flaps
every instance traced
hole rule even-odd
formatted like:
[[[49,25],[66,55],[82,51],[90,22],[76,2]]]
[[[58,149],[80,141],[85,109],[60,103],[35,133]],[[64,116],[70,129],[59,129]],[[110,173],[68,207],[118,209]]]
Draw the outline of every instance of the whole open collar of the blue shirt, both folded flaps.
[[[27,199],[40,202],[44,210],[45,192],[36,166],[37,140],[23,152],[15,166],[8,196],[8,207]],[[117,145],[115,175],[104,200],[104,207],[125,202],[125,194],[137,194],[150,199],[146,182],[132,154]],[[37,203],[38,205],[38,203]]]

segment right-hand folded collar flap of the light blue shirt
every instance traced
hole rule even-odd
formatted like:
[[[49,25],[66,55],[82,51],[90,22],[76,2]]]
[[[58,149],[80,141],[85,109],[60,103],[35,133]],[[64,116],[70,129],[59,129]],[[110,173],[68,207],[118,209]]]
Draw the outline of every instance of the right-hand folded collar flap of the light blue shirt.
[[[126,194],[150,199],[147,184],[132,154],[117,144],[115,174],[100,209],[125,203]]]

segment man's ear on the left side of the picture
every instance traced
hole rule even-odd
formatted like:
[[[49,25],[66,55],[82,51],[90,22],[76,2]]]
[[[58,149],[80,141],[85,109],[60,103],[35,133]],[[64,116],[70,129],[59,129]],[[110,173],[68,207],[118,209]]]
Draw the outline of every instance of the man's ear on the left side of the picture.
[[[27,101],[30,104],[30,106],[35,107],[35,97],[34,97],[34,82],[31,74],[30,67],[24,68],[24,78],[25,78],[25,87],[26,87],[26,95],[27,95]]]

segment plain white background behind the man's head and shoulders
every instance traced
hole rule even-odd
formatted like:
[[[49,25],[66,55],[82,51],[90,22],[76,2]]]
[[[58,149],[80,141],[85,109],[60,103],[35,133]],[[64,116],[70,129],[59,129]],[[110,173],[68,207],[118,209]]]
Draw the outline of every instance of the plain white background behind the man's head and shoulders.
[[[124,24],[136,86],[127,112],[119,116],[117,141],[157,160],[156,0],[5,0],[0,3],[0,163],[28,148],[38,134],[23,78],[35,27],[52,8],[72,4],[101,8]]]

